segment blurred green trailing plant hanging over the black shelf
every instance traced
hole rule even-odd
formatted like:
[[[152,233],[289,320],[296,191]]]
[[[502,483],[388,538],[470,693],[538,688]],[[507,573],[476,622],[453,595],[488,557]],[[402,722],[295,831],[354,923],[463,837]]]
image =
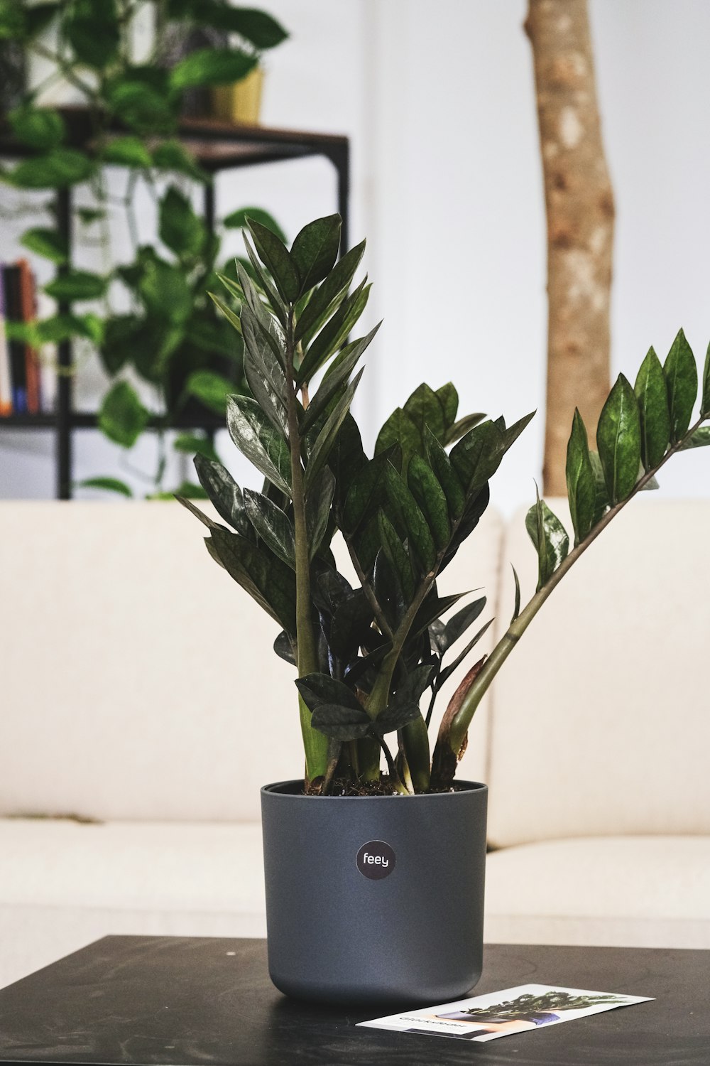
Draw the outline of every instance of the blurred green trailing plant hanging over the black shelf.
[[[138,61],[134,28],[147,12],[155,29]],[[180,139],[179,123],[186,113],[203,114],[204,94],[244,79],[263,51],[286,36],[267,13],[220,0],[0,0],[0,66],[13,75],[3,81],[1,106],[28,157],[4,167],[2,179],[18,190],[52,194],[33,205],[33,221],[39,207],[47,224],[28,228],[20,242],[53,264],[54,277],[43,289],[57,305],[36,322],[9,323],[9,333],[45,353],[63,340],[98,352],[110,383],[100,430],[127,450],[149,423],[158,436],[155,469],[143,471],[149,496],[171,495],[164,484],[170,449],[214,457],[209,432],[170,433],[176,422],[184,424],[192,415],[199,427],[210,414],[224,416],[228,393],[247,391],[241,338],[209,296],[217,274],[236,277],[234,261],[221,255],[221,238],[242,227],[248,213],[285,239],[276,221],[254,207],[232,212],[216,228],[208,225],[193,197],[212,177]],[[31,56],[49,64],[49,72],[22,91]],[[60,83],[71,86],[80,109],[43,103]],[[72,138],[78,118],[90,132],[83,145]],[[120,195],[106,166],[125,172]],[[73,208],[67,235],[56,195],[77,185],[85,187],[89,199]],[[138,231],[141,192],[154,204],[153,243]],[[116,212],[122,212],[130,237],[129,261],[118,262],[112,248]],[[76,265],[75,232],[103,247],[106,270]],[[247,261],[243,265],[252,270]],[[115,478],[82,484],[132,495]],[[179,490],[203,495],[191,483]]]

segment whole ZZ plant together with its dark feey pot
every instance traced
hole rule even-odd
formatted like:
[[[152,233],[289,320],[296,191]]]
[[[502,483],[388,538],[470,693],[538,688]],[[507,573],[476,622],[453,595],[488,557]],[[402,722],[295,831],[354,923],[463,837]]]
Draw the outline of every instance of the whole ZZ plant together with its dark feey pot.
[[[304,779],[262,790],[269,971],[283,991],[324,1000],[456,999],[481,967],[486,789],[455,779],[468,725],[575,560],[638,491],[655,487],[671,455],[710,442],[701,425],[710,359],[692,425],[697,371],[682,332],[663,367],[651,350],[634,387],[620,376],[598,451],[575,415],[574,546],[538,499],[527,519],[538,591],[521,610],[516,580],[510,627],[459,685],[432,750],[435,697],[486,628],[449,661],[485,601],[450,614],[460,597],[440,596],[436,579],[532,416],[510,426],[459,418],[452,385],[423,385],[387,419],[369,458],[350,405],[377,327],[348,340],[367,302],[366,279],[350,291],[364,242],[337,260],[336,215],[306,226],[290,249],[247,222],[257,281],[237,265],[238,281],[225,279],[235,309],[215,300],[243,337],[251,389],[229,399],[229,432],[264,486],[243,491],[198,455],[219,520],[181,502],[207,526],[213,559],[281,626],[275,650],[296,667]],[[336,566],[336,532],[354,585]]]

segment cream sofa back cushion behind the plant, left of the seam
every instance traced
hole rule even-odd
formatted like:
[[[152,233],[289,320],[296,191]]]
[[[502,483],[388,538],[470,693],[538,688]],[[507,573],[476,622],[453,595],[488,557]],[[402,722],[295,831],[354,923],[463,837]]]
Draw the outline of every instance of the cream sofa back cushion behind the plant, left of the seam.
[[[278,626],[201,537],[177,503],[0,502],[0,814],[247,820],[302,773]],[[490,511],[441,592],[490,616],[500,539]],[[484,750],[483,708],[462,775]]]

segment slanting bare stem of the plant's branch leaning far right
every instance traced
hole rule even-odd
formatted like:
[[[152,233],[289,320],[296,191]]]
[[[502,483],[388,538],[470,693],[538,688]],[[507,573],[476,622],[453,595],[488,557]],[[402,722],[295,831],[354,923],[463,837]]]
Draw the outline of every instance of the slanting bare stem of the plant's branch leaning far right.
[[[567,574],[567,571],[575,565],[577,560],[582,555],[589,546],[596,540],[602,530],[609,526],[609,523],[616,517],[620,511],[623,511],[627,503],[633,499],[633,497],[640,492],[645,485],[654,478],[661,467],[667,463],[672,455],[675,455],[682,446],[690,439],[690,437],[695,433],[695,431],[706,421],[707,416],[703,416],[698,421],[692,425],[686,435],[668,451],[665,453],[658,466],[654,467],[651,470],[647,470],[642,478],[637,482],[633,489],[626,497],[625,500],[621,500],[599,519],[594,529],[587,535],[587,537],[581,540],[576,548],[574,548],[568,555],[560,563],[559,567],[548,581],[539,588],[530,601],[525,605],[523,611],[521,611],[517,618],[511,621],[508,630],[503,636],[498,641],[495,648],[485,661],[483,668],[480,674],[472,684],[470,689],[466,693],[458,713],[455,715],[450,723],[450,728],[447,736],[440,737],[436,741],[436,748],[434,750],[434,769],[442,768],[445,763],[447,765],[455,766],[451,761],[451,756],[455,756],[458,760],[459,752],[463,744],[464,738],[470,725],[472,718],[478,709],[483,696],[485,695],[491,682],[494,677],[502,666],[502,664],[508,659],[517,642],[519,641],[523,633],[526,631],[538,611],[543,605],[547,597],[550,595],[554,588],[556,588],[562,578]],[[448,759],[447,759],[448,757]],[[448,776],[448,775],[447,775]],[[451,774],[452,776],[452,774]],[[442,782],[446,784],[446,781]]]

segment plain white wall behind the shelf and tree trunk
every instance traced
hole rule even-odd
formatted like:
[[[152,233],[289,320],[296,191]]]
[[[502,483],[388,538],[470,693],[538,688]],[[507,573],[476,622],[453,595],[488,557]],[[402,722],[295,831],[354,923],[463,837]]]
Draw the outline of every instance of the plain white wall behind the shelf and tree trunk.
[[[292,38],[269,60],[264,122],[352,139],[351,233],[368,237],[368,321],[385,319],[359,403],[366,438],[423,379],[453,379],[462,409],[513,419],[538,407],[494,483],[510,510],[533,495],[544,419],[545,227],[525,2],[267,6]],[[698,357],[710,337],[710,4],[591,0],[591,18],[617,207],[613,362],[632,376],[650,343],[665,355],[678,326]],[[264,205],[292,237],[333,196],[317,160],[218,184],[225,209]],[[36,437],[13,434],[12,448],[9,437],[0,495],[50,495],[49,442],[33,457]],[[79,477],[112,472],[98,435],[77,440]],[[706,495],[707,459],[676,458],[663,490]]]

